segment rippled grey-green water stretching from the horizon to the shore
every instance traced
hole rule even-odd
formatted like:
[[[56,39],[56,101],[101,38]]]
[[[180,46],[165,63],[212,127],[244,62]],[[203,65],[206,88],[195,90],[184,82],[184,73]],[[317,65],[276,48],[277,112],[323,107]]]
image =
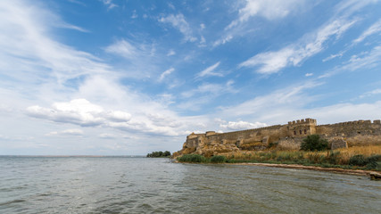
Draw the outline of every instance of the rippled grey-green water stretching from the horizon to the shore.
[[[0,213],[381,213],[381,182],[168,159],[0,157]]]

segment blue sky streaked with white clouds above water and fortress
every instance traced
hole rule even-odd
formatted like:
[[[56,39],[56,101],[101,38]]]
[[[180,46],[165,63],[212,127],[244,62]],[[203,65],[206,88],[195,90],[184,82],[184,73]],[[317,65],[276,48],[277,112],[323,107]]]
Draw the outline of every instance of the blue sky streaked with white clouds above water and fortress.
[[[0,1],[0,155],[381,119],[381,2]]]

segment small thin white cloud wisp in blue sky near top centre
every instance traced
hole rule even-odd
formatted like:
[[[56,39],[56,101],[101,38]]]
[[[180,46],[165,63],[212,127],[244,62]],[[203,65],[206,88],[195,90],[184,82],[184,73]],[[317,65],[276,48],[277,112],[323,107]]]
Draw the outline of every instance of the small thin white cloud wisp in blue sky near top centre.
[[[189,27],[183,14],[178,13],[176,16],[170,14],[167,17],[162,17],[159,21],[170,23],[173,28],[178,29],[184,35],[186,41],[195,42],[197,40],[197,38],[193,36],[193,30]]]

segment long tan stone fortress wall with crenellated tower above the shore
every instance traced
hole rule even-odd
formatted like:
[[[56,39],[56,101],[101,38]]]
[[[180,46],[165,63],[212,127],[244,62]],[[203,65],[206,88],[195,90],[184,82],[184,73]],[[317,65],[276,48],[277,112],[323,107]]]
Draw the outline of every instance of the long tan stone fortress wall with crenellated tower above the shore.
[[[297,150],[302,139],[317,134],[328,140],[331,149],[353,145],[381,144],[381,122],[379,119],[357,120],[336,124],[317,125],[316,119],[298,119],[286,125],[254,128],[228,133],[208,131],[186,136],[182,150],[174,157],[198,153],[205,157],[223,152],[264,150]]]

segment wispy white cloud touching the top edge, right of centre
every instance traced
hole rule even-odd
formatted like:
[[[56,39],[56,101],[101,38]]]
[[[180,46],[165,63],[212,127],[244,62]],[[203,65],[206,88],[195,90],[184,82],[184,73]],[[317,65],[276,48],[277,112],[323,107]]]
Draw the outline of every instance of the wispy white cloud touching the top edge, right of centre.
[[[246,4],[239,10],[239,18],[232,21],[227,29],[248,21],[253,16],[261,16],[267,20],[276,20],[286,17],[290,12],[300,9],[302,0],[246,0]]]

